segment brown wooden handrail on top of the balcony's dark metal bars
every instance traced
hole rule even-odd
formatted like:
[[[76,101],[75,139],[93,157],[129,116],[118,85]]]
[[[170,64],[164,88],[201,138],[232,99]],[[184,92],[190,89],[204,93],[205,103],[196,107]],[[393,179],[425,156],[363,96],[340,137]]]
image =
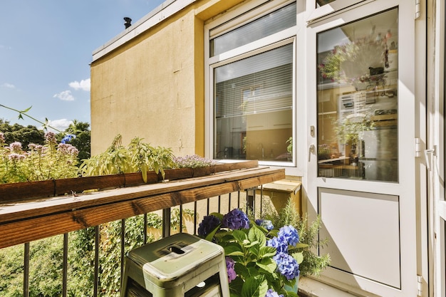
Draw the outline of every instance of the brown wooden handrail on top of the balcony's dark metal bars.
[[[0,206],[0,249],[134,217],[285,178],[283,169],[250,167],[177,181]]]

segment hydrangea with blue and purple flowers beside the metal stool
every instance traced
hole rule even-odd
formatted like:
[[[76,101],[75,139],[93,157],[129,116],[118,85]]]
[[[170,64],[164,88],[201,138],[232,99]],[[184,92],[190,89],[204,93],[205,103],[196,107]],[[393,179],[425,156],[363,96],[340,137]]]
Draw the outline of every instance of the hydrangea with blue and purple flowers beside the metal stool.
[[[290,202],[286,209],[296,214]],[[281,224],[294,221],[276,222],[274,227],[269,219],[249,219],[242,210],[233,209],[224,215],[209,214],[199,224],[199,236],[224,248],[231,296],[296,297],[301,266],[308,275],[328,264],[329,256],[311,255],[310,245],[300,240],[293,224]],[[306,221],[300,226],[307,226]],[[303,231],[308,239],[308,229]],[[313,236],[312,231],[311,241]],[[305,254],[311,264],[305,263]]]

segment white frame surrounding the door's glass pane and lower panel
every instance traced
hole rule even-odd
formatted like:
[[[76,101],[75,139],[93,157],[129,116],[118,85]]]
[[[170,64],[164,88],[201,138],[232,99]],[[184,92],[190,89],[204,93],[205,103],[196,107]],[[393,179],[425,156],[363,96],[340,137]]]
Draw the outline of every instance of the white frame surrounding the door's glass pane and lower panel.
[[[422,217],[423,207],[420,201],[423,187],[417,187],[418,181],[422,180],[422,173],[420,173],[420,161],[415,158],[415,137],[423,137],[424,132],[423,127],[425,127],[425,118],[422,115],[422,111],[419,108],[420,102],[425,100],[425,84],[420,83],[424,79],[425,73],[422,72],[421,75],[415,75],[416,65],[415,63],[402,63],[403,61],[416,61],[420,63],[420,59],[415,59],[416,48],[415,45],[415,5],[412,1],[395,0],[395,1],[364,1],[356,6],[355,9],[349,9],[349,11],[338,12],[336,16],[324,16],[321,19],[312,21],[308,26],[308,36],[307,36],[307,53],[308,53],[308,63],[307,63],[307,77],[316,77],[316,55],[311,55],[316,51],[316,33],[319,31],[324,31],[335,26],[339,26],[348,21],[353,21],[361,16],[367,16],[374,11],[382,11],[389,9],[393,6],[399,5],[400,9],[400,36],[404,35],[404,38],[400,38],[400,46],[404,47],[404,51],[399,53],[400,70],[399,70],[399,80],[398,85],[400,104],[398,105],[398,113],[400,115],[400,120],[398,120],[398,130],[399,130],[399,172],[400,172],[400,182],[398,184],[388,184],[385,182],[367,182],[360,180],[348,180],[348,179],[336,179],[336,178],[322,178],[317,177],[317,165],[316,165],[316,155],[310,152],[310,145],[316,145],[317,139],[314,135],[309,132],[309,127],[317,127],[316,119],[316,85],[314,85],[314,80],[308,80],[307,90],[307,149],[306,149],[306,159],[309,160],[307,165],[307,176],[304,177],[304,186],[306,186],[308,195],[308,215],[316,216],[318,212],[318,189],[319,188],[329,188],[329,189],[348,189],[354,192],[368,192],[368,193],[378,193],[378,194],[390,194],[400,197],[400,242],[401,242],[401,275],[402,275],[402,291],[388,291],[389,296],[414,296],[417,292],[418,287],[418,277],[420,274],[419,267],[422,265],[422,259],[424,256],[420,255],[420,246],[423,244],[417,244],[418,239],[425,233],[425,229],[422,229],[424,219]],[[414,28],[414,30],[405,30],[405,28]],[[425,45],[423,41],[422,46]],[[425,51],[422,52],[424,55]],[[424,56],[422,56],[422,59]],[[417,64],[418,65],[418,64]],[[420,66],[420,65],[418,65]],[[415,85],[415,80],[418,80]],[[421,94],[421,95],[420,95]],[[402,99],[404,98],[404,100]],[[408,122],[405,122],[405,115],[408,115]],[[413,115],[413,118],[410,117]],[[415,120],[417,119],[417,120]],[[407,118],[406,118],[407,120]],[[415,123],[413,123],[415,120]],[[419,130],[415,130],[415,126]],[[404,127],[404,130],[403,130]],[[410,135],[409,137],[407,135]],[[413,148],[413,149],[412,149]],[[420,159],[420,158],[418,158]],[[414,173],[415,172],[415,173]],[[313,217],[314,218],[314,217]],[[424,224],[427,226],[426,224]],[[415,231],[416,230],[416,231]],[[329,270],[329,269],[328,269]],[[410,272],[408,272],[410,271]],[[328,272],[326,275],[330,275]],[[323,281],[331,283],[334,286],[341,286],[346,290],[351,290],[353,293],[360,294],[361,290],[355,289],[353,286],[345,286],[341,283],[333,281],[330,278],[321,278]],[[363,284],[364,288],[368,291],[374,291],[376,294],[381,294],[380,284],[368,282],[357,278],[358,283]],[[361,285],[362,286],[362,285]],[[385,291],[385,290],[384,290]],[[402,292],[402,293],[401,293]],[[395,295],[393,295],[395,293]],[[415,294],[414,294],[415,293]],[[364,296],[373,296],[368,293],[363,293]],[[382,293],[385,294],[385,293]]]

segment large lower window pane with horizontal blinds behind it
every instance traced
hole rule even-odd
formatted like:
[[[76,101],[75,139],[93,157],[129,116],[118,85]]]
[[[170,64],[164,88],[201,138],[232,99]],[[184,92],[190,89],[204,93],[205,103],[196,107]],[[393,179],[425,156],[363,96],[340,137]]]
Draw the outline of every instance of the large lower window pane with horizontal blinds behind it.
[[[214,69],[214,159],[291,162],[293,46]]]

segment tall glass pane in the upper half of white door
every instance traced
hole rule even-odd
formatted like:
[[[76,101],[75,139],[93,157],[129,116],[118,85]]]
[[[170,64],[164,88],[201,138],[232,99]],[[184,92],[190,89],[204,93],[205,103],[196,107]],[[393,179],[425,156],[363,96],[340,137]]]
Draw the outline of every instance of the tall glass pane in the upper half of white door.
[[[398,9],[317,42],[318,175],[398,182]]]

